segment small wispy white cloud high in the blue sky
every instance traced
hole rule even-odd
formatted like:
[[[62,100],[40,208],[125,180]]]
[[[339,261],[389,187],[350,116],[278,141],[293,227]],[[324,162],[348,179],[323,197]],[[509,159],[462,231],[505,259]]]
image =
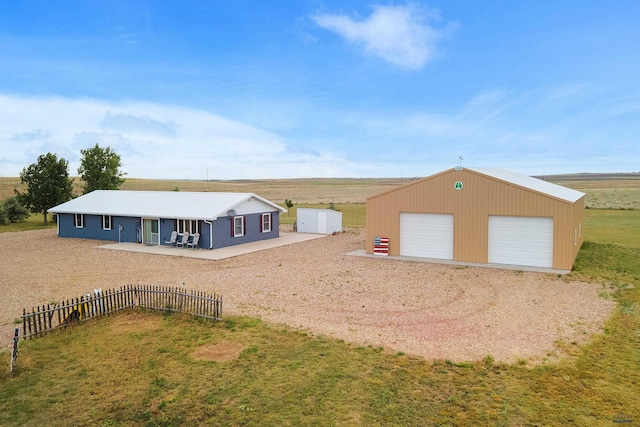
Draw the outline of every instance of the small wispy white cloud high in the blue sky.
[[[438,13],[413,4],[372,8],[371,16],[360,21],[333,14],[314,15],[312,19],[320,27],[362,46],[365,52],[407,70],[420,69],[432,60],[436,42],[455,27],[436,29],[428,25],[428,20],[439,19]]]

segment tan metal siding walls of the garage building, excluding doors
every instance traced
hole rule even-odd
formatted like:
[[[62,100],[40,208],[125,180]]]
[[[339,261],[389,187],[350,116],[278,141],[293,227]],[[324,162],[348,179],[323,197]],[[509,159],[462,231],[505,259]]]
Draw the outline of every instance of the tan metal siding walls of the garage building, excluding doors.
[[[464,184],[460,191],[453,187],[458,180]],[[383,236],[389,237],[389,254],[400,255],[400,212],[453,212],[454,259],[486,263],[489,216],[552,217],[553,268],[570,269],[583,241],[582,237],[577,247],[573,245],[573,230],[580,223],[584,236],[583,209],[584,198],[571,204],[466,169],[451,169],[368,198],[366,250],[372,253],[373,238]]]

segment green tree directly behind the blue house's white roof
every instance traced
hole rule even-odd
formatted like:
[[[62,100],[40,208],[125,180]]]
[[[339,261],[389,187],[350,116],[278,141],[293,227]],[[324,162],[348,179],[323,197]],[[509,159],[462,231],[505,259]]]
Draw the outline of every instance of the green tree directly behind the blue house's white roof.
[[[96,144],[95,147],[80,150],[80,153],[82,160],[78,175],[85,182],[84,194],[93,190],[117,190],[122,185],[122,177],[126,174],[120,171],[120,155],[112,151],[111,147],[102,148]]]

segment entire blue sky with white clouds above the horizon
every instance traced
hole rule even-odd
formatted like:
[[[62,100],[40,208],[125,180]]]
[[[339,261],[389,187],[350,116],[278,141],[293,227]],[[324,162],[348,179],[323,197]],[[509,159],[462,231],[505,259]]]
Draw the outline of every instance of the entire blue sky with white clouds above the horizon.
[[[0,5],[0,176],[640,171],[637,1]]]

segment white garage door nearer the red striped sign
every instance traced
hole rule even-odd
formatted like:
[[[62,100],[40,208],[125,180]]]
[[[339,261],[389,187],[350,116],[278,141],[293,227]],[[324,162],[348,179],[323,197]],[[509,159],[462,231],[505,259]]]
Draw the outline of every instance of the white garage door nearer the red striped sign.
[[[400,255],[453,259],[453,215],[400,213]]]

